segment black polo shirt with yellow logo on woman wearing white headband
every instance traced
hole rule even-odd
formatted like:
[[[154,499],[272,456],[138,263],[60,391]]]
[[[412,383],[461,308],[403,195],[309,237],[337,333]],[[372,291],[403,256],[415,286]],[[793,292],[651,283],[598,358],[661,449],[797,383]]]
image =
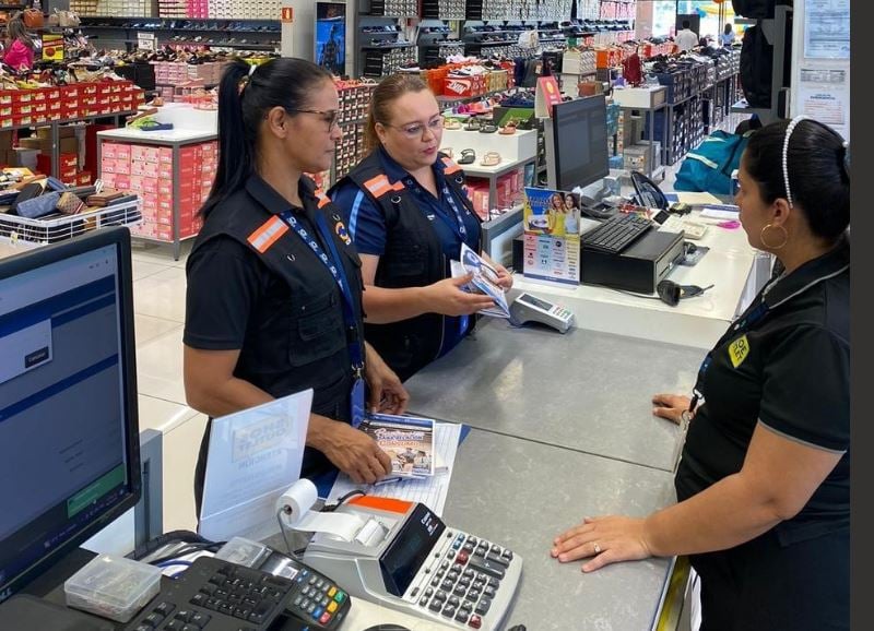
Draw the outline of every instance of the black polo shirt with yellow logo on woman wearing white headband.
[[[741,471],[759,422],[843,454],[801,512],[776,527],[789,545],[849,524],[849,238],[759,296],[767,314],[712,352],[701,382],[706,401],[689,425],[675,486],[682,501]]]

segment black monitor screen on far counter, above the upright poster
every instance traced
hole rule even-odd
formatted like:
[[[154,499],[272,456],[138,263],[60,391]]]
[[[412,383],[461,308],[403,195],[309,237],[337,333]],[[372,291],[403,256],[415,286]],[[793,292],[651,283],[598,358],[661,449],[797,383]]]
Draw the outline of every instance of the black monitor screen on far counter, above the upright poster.
[[[569,191],[610,175],[607,110],[603,95],[577,98],[553,106],[555,188]]]

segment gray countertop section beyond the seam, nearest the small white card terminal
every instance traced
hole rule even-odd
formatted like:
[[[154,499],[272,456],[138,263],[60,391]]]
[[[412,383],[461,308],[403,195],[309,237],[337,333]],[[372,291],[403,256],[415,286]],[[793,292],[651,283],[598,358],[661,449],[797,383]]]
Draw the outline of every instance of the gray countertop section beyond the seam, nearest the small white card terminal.
[[[673,471],[682,432],[652,415],[651,396],[688,394],[702,358],[699,348],[484,320],[404,385],[423,416]]]

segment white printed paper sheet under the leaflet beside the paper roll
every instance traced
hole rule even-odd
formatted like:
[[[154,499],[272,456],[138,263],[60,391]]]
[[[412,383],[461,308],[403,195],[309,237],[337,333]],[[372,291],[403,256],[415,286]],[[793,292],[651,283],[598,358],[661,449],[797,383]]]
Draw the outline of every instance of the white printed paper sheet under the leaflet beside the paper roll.
[[[336,477],[326,503],[334,503],[347,492],[361,489],[367,495],[380,498],[397,498],[410,502],[422,502],[438,515],[442,515],[446,496],[449,492],[449,483],[456,463],[458,439],[461,436],[461,425],[456,422],[435,422],[434,441],[437,450],[437,460],[448,467],[445,474],[437,474],[426,478],[406,478],[387,485],[356,485],[352,479],[340,474]]]

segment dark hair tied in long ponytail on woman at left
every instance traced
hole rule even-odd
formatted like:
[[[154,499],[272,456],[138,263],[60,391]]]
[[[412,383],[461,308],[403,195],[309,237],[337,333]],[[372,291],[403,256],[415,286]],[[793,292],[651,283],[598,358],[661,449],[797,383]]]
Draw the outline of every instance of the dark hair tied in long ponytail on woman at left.
[[[331,74],[311,61],[271,59],[252,67],[228,63],[218,84],[218,167],[203,203],[205,217],[222,200],[244,187],[256,171],[261,122],[274,107],[306,109],[307,98]]]

